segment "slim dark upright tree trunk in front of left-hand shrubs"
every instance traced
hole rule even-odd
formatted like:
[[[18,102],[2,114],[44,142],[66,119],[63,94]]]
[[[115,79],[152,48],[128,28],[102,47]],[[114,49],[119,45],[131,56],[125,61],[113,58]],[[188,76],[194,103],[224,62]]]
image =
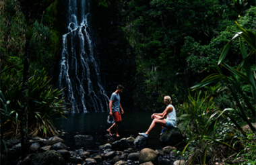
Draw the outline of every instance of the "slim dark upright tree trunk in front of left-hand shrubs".
[[[23,70],[23,89],[22,89],[22,115],[21,115],[21,143],[22,157],[28,156],[30,145],[28,144],[28,46],[30,40],[26,40],[24,54],[24,70]]]

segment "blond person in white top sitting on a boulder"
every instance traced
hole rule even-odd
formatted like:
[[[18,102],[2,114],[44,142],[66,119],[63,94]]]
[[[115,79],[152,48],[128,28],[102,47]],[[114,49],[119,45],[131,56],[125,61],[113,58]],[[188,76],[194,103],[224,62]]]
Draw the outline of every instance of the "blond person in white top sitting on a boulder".
[[[166,109],[163,113],[153,113],[151,115],[151,119],[154,119],[148,128],[148,131],[145,133],[139,133],[139,135],[143,135],[148,137],[148,133],[155,127],[156,123],[162,126],[162,133],[166,129],[166,127],[177,127],[176,126],[176,111],[172,105],[172,99],[169,96],[164,97],[164,104],[167,105]],[[166,117],[166,119],[165,119]],[[161,133],[161,134],[162,134]]]

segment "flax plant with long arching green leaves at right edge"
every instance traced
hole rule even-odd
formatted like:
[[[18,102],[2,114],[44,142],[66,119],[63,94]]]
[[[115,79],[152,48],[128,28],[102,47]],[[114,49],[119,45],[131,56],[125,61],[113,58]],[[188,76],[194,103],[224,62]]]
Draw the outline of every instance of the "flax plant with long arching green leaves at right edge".
[[[216,66],[216,69],[218,70],[218,73],[211,74],[210,76],[207,76],[204,78],[201,83],[198,85],[195,85],[192,87],[193,91],[196,89],[199,89],[201,87],[205,87],[207,85],[210,85],[211,83],[216,83],[220,82],[221,80],[224,80],[226,82],[228,89],[230,90],[232,94],[232,98],[236,102],[235,107],[233,108],[227,108],[224,110],[217,109],[216,111],[213,111],[212,114],[210,115],[207,124],[205,125],[205,129],[201,132],[201,135],[198,135],[197,137],[194,138],[198,140],[198,145],[197,147],[201,147],[199,151],[194,152],[194,154],[190,157],[189,161],[187,161],[187,164],[191,164],[194,162],[195,158],[197,158],[197,155],[200,153],[202,150],[202,156],[200,159],[200,164],[206,164],[206,155],[207,152],[210,152],[211,144],[216,145],[220,144],[221,146],[226,146],[230,152],[229,154],[232,153],[231,156],[228,158],[219,158],[219,163],[223,164],[226,162],[226,160],[229,160],[235,155],[238,155],[240,152],[240,148],[236,148],[235,144],[238,140],[240,142],[245,142],[247,140],[247,133],[243,131],[241,124],[237,122],[236,118],[232,117],[230,114],[238,115],[240,119],[243,119],[245,123],[247,123],[253,133],[256,133],[256,129],[249,121],[248,118],[248,113],[247,110],[253,115],[253,117],[256,117],[256,111],[255,111],[255,97],[256,97],[256,87],[255,87],[255,74],[251,71],[251,64],[250,64],[250,57],[255,54],[256,51],[256,36],[253,32],[250,30],[245,30],[241,25],[239,25],[237,22],[236,24],[238,25],[238,29],[241,30],[241,32],[238,32],[235,34],[235,36],[226,44],[224,49],[222,50],[222,54],[220,55],[220,58],[218,60],[218,64],[214,62],[214,65]],[[228,50],[230,49],[230,46],[233,42],[233,40],[237,37],[242,38],[251,46],[251,52],[247,54],[247,51],[245,49],[245,45],[243,44],[243,40],[240,40],[239,38],[239,45],[241,48],[241,54],[243,56],[243,60],[237,67],[232,67],[229,66],[228,64],[224,63],[224,59],[226,58],[226,55],[228,54]],[[228,74],[226,72],[224,73],[223,71],[228,71]],[[250,102],[250,98],[243,93],[241,86],[239,85],[240,82],[246,83],[251,87],[251,93],[253,95],[253,103]],[[243,101],[241,101],[241,99]],[[244,135],[244,138],[242,139],[241,137],[235,137],[232,133],[230,133],[230,139],[227,140],[225,138],[216,138],[214,135],[216,134],[216,130],[218,127],[220,127],[220,118],[221,117],[227,117],[234,123],[236,126],[235,131],[241,132],[241,134]],[[224,136],[225,137],[225,136]],[[229,144],[226,143],[226,141],[230,142]],[[233,142],[232,142],[233,141]],[[191,140],[187,146],[185,147],[185,150],[191,144],[193,140]],[[184,151],[185,151],[184,150]],[[183,151],[183,152],[184,152]],[[216,155],[212,155],[212,158],[216,157]],[[221,160],[222,159],[222,160]],[[214,160],[212,160],[214,162]]]

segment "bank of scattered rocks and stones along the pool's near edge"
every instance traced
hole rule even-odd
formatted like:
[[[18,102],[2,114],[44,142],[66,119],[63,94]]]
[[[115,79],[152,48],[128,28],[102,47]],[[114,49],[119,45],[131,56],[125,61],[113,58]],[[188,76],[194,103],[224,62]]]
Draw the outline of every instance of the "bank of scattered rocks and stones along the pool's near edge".
[[[7,152],[1,153],[1,163],[7,159],[10,165],[63,165],[63,164],[179,164],[184,163],[182,158],[175,156],[173,146],[169,142],[179,142],[183,136],[179,129],[168,129],[160,140],[166,140],[162,150],[145,148],[146,137],[138,135],[136,138],[127,137],[112,144],[102,144],[95,150],[69,150],[61,137],[51,138],[30,137],[30,155],[23,160],[21,156],[20,140],[12,139],[6,142]],[[75,141],[92,141],[92,135],[75,135]],[[164,142],[164,141],[162,141]]]

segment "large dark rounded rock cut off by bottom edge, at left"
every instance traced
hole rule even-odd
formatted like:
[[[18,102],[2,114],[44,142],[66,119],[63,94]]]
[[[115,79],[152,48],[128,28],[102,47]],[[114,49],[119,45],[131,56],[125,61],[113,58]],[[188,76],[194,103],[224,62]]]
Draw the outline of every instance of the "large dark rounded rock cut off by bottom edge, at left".
[[[67,164],[59,152],[49,150],[36,154],[30,165],[65,165]]]

